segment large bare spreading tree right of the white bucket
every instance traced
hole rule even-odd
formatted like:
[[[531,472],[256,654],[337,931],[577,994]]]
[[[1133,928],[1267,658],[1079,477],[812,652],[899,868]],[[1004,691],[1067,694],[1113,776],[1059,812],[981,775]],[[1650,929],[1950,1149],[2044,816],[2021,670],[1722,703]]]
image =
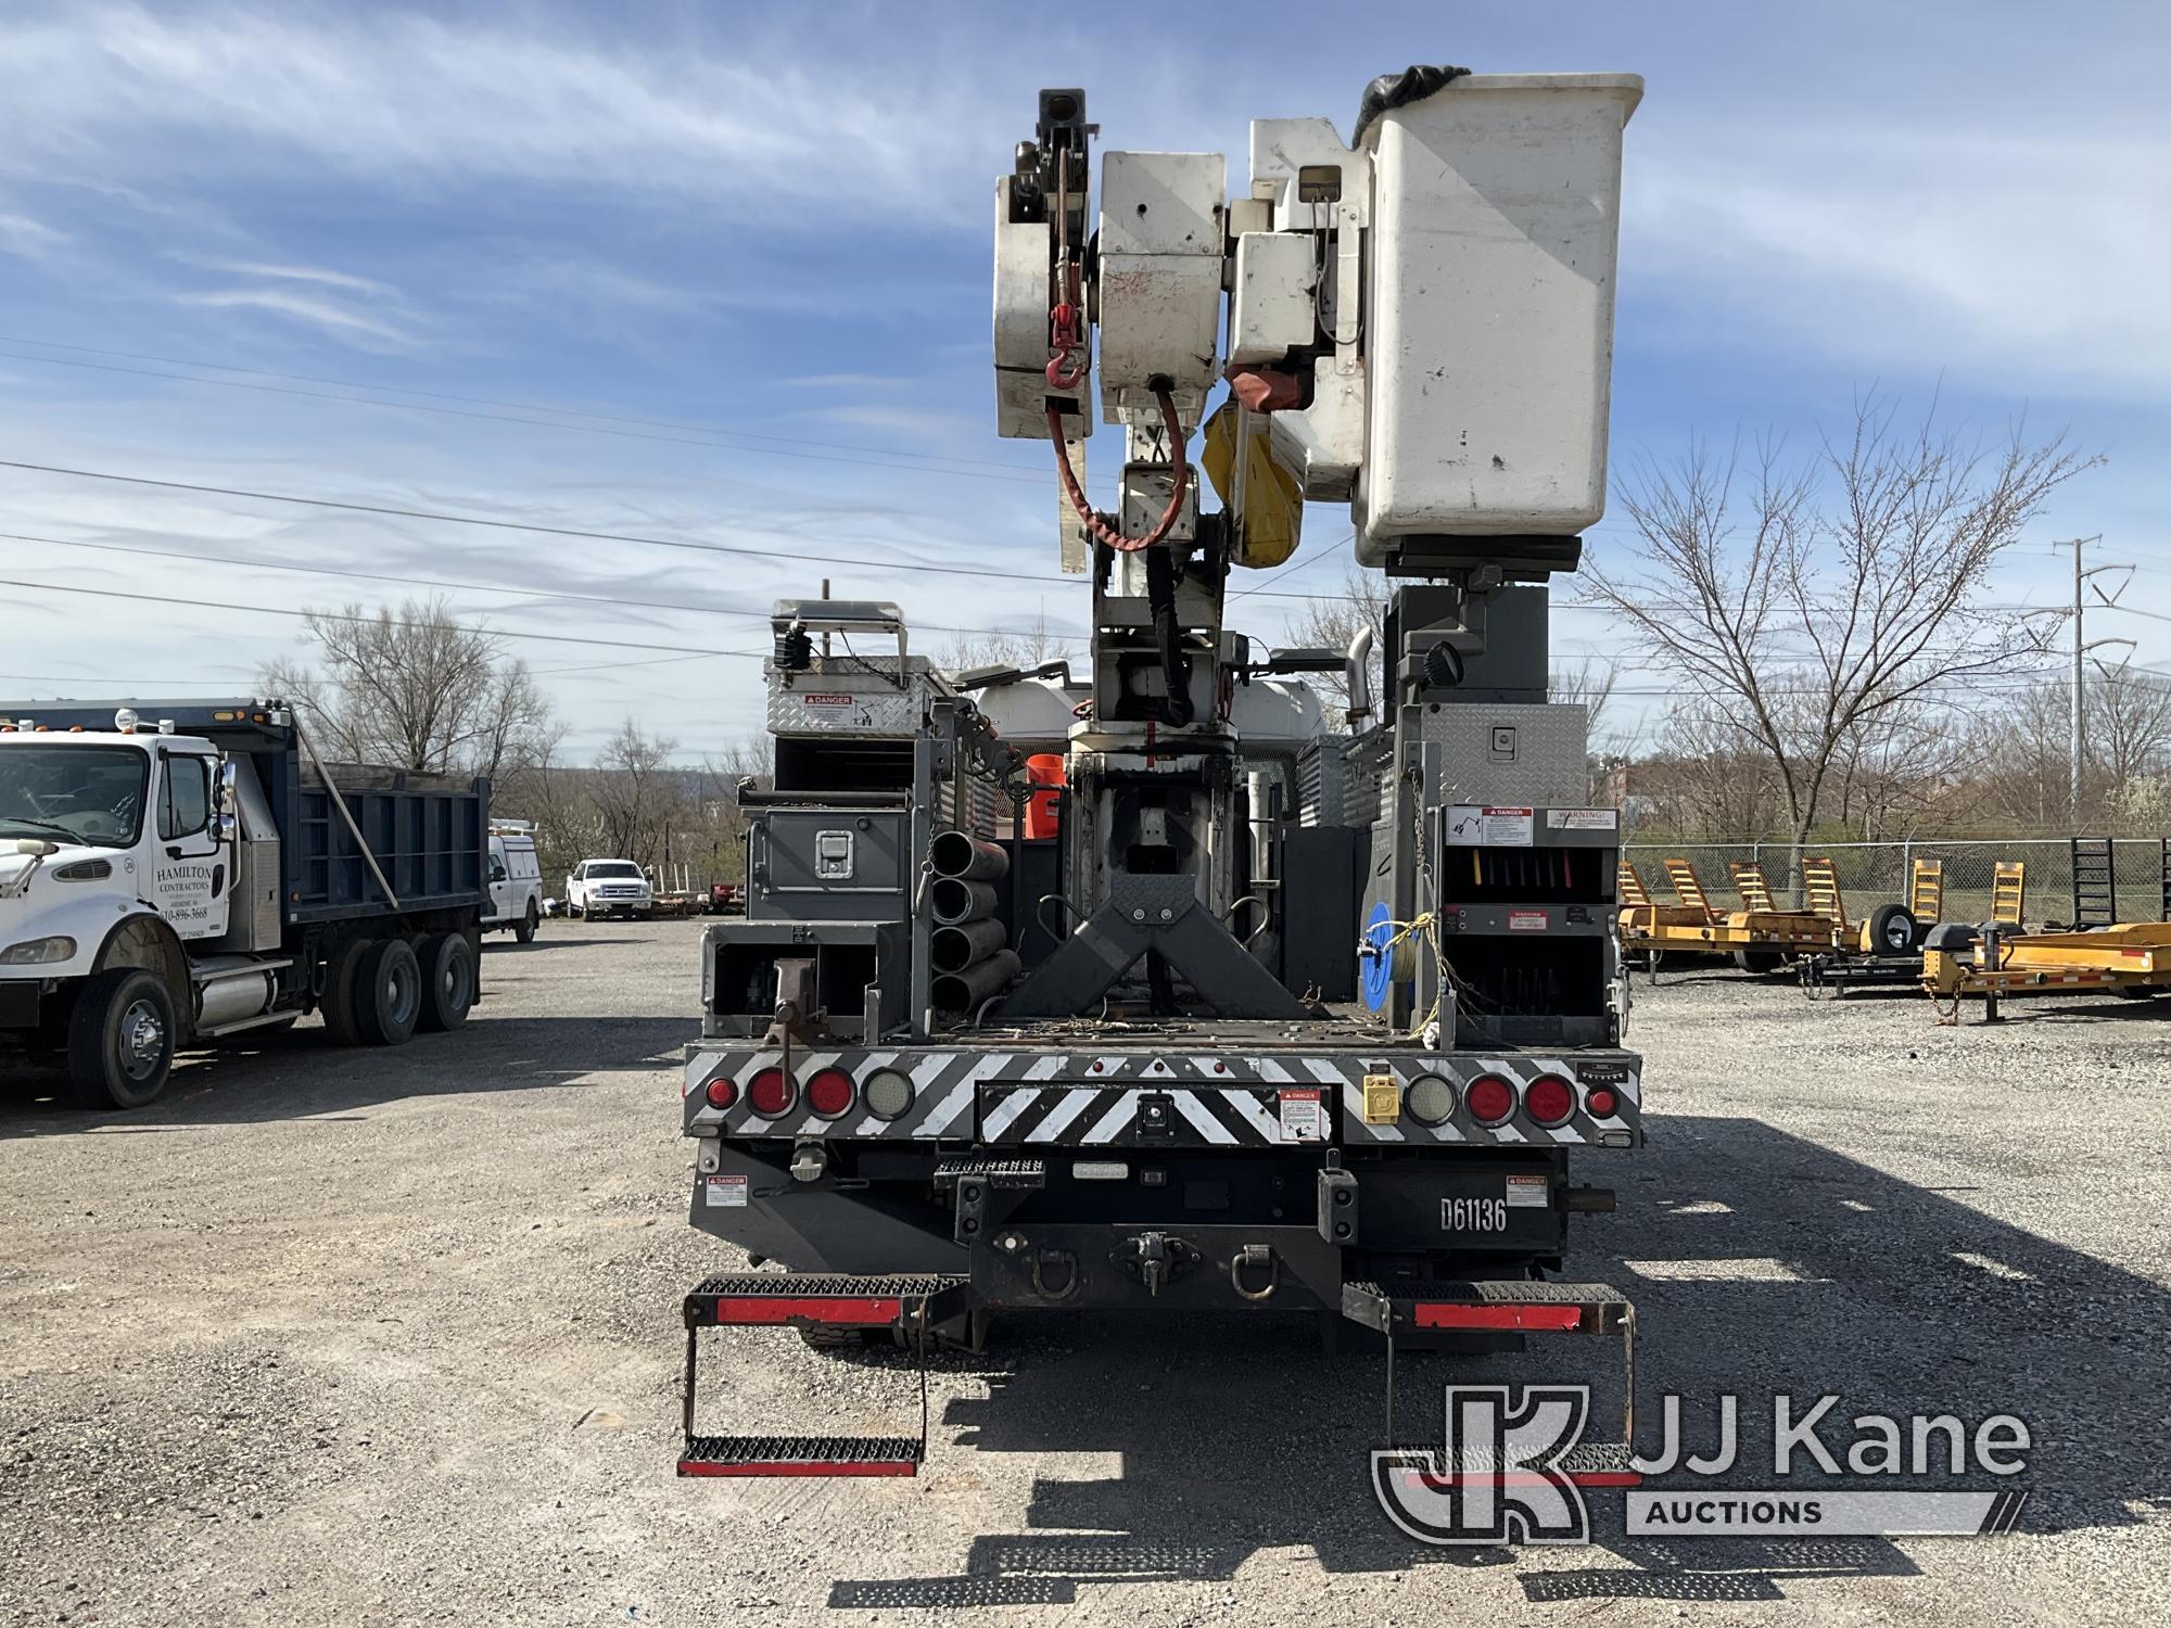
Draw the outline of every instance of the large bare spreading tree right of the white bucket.
[[[1774,441],[1748,471],[1702,443],[1646,460],[1620,493],[1639,545],[1585,580],[1654,664],[1745,732],[1800,847],[1865,725],[2041,649],[1982,590],[2049,493],[2095,462],[2062,436],[1969,447],[1934,410],[1900,428],[1871,395],[1806,460]]]

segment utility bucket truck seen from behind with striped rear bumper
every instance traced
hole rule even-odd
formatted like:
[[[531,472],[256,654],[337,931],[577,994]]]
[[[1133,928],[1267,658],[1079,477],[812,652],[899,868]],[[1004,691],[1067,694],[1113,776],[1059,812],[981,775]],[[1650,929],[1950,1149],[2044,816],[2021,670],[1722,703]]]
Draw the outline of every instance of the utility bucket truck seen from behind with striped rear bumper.
[[[1546,703],[1546,623],[1604,510],[1639,98],[1411,69],[1348,143],[1253,124],[1231,202],[1211,152],[1096,180],[1086,93],[1040,93],[994,187],[996,428],[1049,443],[1090,653],[944,675],[894,606],[777,606],[684,1131],[693,1224],[786,1270],[686,1296],[682,1474],[927,1450],[925,1378],[918,1437],[697,1430],[716,1326],[925,1354],[990,1313],[1285,1311],[1376,1331],[1389,1372],[1528,1333],[1630,1354],[1628,1300],[1557,1279],[1567,1218],[1613,1207],[1570,1159],[1643,1131],[1617,818],[1585,807],[1583,708]],[[1257,651],[1231,573],[1287,558],[1307,501],[1350,506],[1385,627]]]

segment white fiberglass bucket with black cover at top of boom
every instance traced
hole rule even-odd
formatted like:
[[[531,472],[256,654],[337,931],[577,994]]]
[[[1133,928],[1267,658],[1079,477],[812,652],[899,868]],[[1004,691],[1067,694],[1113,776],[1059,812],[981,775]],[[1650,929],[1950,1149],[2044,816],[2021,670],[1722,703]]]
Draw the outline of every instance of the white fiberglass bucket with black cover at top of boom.
[[[1607,497],[1622,128],[1635,74],[1478,74],[1383,113],[1359,558],[1570,536]]]

